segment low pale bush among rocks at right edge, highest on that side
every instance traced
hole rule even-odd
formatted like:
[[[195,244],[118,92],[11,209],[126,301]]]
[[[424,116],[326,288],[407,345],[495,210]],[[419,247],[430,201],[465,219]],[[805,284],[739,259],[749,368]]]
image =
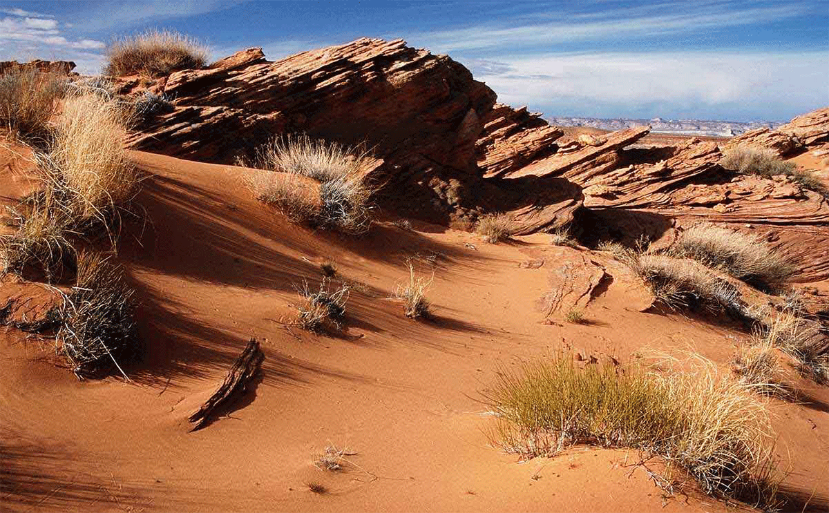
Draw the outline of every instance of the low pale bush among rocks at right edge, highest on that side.
[[[800,186],[829,197],[829,189],[810,172],[799,171],[793,162],[784,161],[768,148],[739,146],[725,153],[720,166],[744,175],[770,178],[775,175],[790,177]]]

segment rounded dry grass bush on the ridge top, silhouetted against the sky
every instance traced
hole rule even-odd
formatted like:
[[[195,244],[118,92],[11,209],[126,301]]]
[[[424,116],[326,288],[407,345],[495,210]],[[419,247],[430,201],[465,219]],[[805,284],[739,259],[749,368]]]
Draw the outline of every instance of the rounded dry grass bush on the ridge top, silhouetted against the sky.
[[[169,75],[204,67],[207,49],[176,31],[146,31],[114,41],[106,49],[104,75]]]

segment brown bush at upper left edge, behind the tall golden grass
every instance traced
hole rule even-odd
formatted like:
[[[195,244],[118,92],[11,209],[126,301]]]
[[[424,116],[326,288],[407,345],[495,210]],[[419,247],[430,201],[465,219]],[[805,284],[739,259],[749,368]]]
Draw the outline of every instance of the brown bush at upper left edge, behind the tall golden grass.
[[[0,75],[0,123],[24,138],[45,137],[65,84],[65,77],[34,68]]]

